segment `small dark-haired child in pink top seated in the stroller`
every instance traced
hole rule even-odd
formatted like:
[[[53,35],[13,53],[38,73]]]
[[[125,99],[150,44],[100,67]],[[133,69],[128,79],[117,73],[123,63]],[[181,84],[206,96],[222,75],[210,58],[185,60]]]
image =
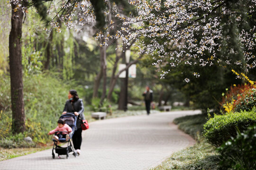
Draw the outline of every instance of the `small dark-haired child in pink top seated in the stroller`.
[[[48,133],[48,135],[55,134],[55,132],[57,132],[57,131],[62,131],[62,133],[57,132],[57,134],[55,136],[53,136],[53,139],[58,141],[59,138],[65,138],[66,141],[68,141],[69,133],[72,132],[72,128],[70,126],[68,126],[67,124],[65,124],[64,119],[59,119],[57,123],[58,123],[58,126],[55,129],[51,130]]]

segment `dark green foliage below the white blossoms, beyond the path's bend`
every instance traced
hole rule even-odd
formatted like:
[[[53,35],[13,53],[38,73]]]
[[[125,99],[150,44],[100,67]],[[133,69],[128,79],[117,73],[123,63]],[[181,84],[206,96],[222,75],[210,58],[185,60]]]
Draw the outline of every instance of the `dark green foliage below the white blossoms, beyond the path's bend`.
[[[168,65],[165,68],[169,70]],[[194,74],[200,73],[199,77]],[[214,74],[212,74],[214,73]],[[189,83],[184,78],[190,79]],[[165,81],[172,84],[185,94],[188,100],[192,102],[194,109],[207,110],[208,108],[219,110],[221,93],[225,92],[225,87],[232,83],[240,83],[240,79],[232,76],[231,70],[211,66],[197,67],[181,63],[175,68],[171,68],[170,74],[165,77]]]

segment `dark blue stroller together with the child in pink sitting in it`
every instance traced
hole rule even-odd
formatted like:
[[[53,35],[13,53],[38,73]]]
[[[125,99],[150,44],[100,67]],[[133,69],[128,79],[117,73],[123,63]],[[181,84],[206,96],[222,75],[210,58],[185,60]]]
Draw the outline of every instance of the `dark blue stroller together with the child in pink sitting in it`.
[[[61,123],[62,120],[60,119],[62,119],[64,122]],[[74,115],[74,113],[66,113],[62,115],[60,119],[58,120],[58,127],[48,133],[49,135],[53,133],[55,134],[53,138],[54,145],[52,150],[53,159],[55,158],[55,153],[58,154],[59,158],[60,155],[66,155],[66,158],[68,158],[68,153],[73,152],[73,155],[76,157],[77,152],[74,150],[72,141],[70,139],[72,139],[73,133],[76,130],[77,117]],[[58,142],[67,142],[67,147],[59,146]]]

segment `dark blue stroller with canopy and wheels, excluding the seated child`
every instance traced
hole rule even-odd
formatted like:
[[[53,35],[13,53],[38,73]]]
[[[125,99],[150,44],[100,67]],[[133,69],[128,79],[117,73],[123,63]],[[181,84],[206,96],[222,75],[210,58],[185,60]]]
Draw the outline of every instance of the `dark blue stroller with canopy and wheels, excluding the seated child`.
[[[69,134],[70,139],[68,139],[68,141],[66,141],[66,138],[61,138],[61,137],[59,137],[58,141],[53,139],[53,142],[54,142],[53,150],[52,150],[53,159],[55,158],[54,150],[55,150],[55,153],[58,154],[58,156],[59,155],[66,155],[67,159],[68,159],[68,153],[70,153],[70,152],[73,152],[73,155],[76,157],[77,152],[73,148],[73,145],[71,143],[71,139],[72,139],[72,136],[74,134],[74,131],[76,130],[76,119],[77,119],[77,117],[73,113],[66,113],[66,114],[62,115],[60,117],[60,119],[65,120],[65,123],[72,128],[72,132],[70,132],[70,134]],[[55,132],[55,135],[60,134],[60,136],[62,136],[63,132],[64,131],[57,131],[57,132]],[[58,142],[61,142],[61,143],[67,142],[67,147],[61,147],[61,146],[57,145]]]

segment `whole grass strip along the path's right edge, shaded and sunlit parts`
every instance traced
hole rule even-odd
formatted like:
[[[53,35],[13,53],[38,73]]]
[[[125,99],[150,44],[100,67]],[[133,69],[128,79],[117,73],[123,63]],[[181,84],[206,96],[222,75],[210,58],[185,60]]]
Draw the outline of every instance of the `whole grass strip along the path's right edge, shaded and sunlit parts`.
[[[174,119],[179,129],[197,139],[197,144],[174,153],[170,158],[150,170],[219,170],[216,148],[202,138],[207,114],[197,114]]]

